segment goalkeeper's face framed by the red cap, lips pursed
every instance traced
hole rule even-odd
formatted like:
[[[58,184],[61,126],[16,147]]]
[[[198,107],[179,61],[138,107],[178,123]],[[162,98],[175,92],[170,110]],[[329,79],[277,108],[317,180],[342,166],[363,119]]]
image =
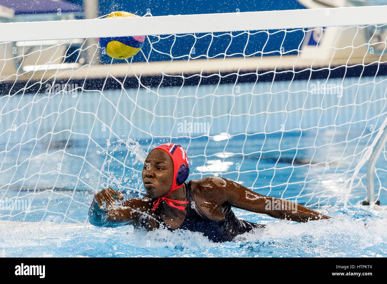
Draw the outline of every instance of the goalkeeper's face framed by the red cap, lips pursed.
[[[142,181],[146,196],[156,199],[167,195],[172,188],[173,161],[163,150],[151,151],[142,169]]]

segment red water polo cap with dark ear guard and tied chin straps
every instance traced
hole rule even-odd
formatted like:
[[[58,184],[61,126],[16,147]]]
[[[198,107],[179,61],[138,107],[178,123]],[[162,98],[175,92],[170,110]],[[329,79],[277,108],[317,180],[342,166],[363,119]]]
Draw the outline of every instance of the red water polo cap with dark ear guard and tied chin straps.
[[[180,210],[184,210],[185,208],[183,206],[175,206],[173,203],[177,204],[186,204],[188,201],[178,201],[178,200],[172,200],[166,198],[173,190],[179,189],[182,187],[185,180],[187,180],[188,175],[190,174],[190,168],[189,168],[189,159],[187,156],[187,153],[185,153],[185,150],[182,146],[173,144],[173,143],[165,143],[162,144],[151,151],[155,149],[161,149],[164,152],[166,152],[173,161],[173,180],[172,180],[172,188],[170,192],[164,196],[160,197],[157,201],[153,202],[154,207],[152,210],[156,210],[157,206],[159,206],[161,201],[165,201],[169,206],[178,208]]]

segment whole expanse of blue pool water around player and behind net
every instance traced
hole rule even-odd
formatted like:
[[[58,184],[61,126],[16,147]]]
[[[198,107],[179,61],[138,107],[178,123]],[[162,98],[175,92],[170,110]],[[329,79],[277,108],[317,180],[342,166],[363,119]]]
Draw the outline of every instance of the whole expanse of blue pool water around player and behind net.
[[[28,210],[1,208],[0,255],[386,257],[386,210],[357,205],[366,198],[362,158],[387,115],[386,82],[346,78],[342,98],[308,95],[303,81],[241,84],[240,94],[224,84],[157,94],[0,97],[1,204],[30,202]],[[176,133],[183,121],[211,128]],[[189,179],[221,176],[334,218],[295,223],[233,209],[267,227],[220,244],[197,232],[92,226],[87,212],[99,190],[144,196],[142,162],[164,142],[185,148]],[[381,205],[387,204],[386,153],[376,164]]]

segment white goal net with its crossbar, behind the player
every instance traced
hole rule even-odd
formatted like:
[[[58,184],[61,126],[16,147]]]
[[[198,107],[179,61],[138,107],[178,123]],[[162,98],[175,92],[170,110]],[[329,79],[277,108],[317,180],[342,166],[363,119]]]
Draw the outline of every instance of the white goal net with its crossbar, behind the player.
[[[387,125],[381,11],[0,24],[0,219],[82,223],[103,188],[142,196],[145,157],[166,142],[187,151],[189,179],[312,208],[364,200]],[[146,37],[128,60],[97,40],[130,35]]]

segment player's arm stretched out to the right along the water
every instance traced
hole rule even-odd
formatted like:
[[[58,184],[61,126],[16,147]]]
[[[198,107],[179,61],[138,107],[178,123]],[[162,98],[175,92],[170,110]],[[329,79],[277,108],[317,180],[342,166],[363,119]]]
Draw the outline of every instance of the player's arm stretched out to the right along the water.
[[[221,177],[207,177],[198,182],[200,186],[211,189],[209,191],[213,192],[212,195],[218,199],[219,204],[228,203],[240,209],[296,222],[330,218],[295,202],[258,194],[243,185]]]

